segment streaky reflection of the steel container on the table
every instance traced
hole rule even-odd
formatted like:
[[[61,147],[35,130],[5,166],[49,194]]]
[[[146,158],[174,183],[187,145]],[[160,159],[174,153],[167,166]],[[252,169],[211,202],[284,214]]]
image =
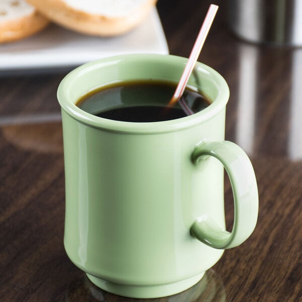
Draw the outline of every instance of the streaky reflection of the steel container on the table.
[[[302,48],[289,51],[238,43],[235,140],[250,156],[266,154],[285,156],[292,161],[302,159]],[[288,64],[282,62],[286,54]],[[270,56],[275,66],[263,68]],[[290,74],[288,83],[282,78],[286,74]],[[266,86],[268,79],[270,86]]]

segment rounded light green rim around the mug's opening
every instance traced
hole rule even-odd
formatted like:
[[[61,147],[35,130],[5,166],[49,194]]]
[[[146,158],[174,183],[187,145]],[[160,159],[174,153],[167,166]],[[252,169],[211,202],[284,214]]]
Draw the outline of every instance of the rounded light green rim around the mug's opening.
[[[95,116],[91,113],[88,113],[82,109],[80,109],[77,105],[75,105],[70,97],[68,96],[67,89],[72,84],[73,80],[79,75],[85,72],[89,72],[90,69],[101,68],[102,66],[108,66],[108,64],[118,64],[121,61],[145,61],[145,62],[154,62],[161,64],[173,63],[185,67],[188,58],[175,56],[175,55],[167,55],[167,54],[123,54],[117,56],[110,56],[101,58],[95,61],[91,61],[85,63],[73,70],[71,70],[65,77],[62,79],[58,86],[57,90],[57,99],[61,106],[61,109],[64,110],[69,116],[78,120],[81,123],[86,125],[100,128],[103,130],[107,130],[110,132],[127,132],[127,133],[164,133],[164,132],[172,132],[179,131],[186,128],[191,128],[195,125],[198,125],[206,120],[211,119],[215,115],[217,115],[221,110],[225,108],[226,103],[228,103],[230,90],[229,86],[216,70],[211,68],[210,66],[197,62],[195,65],[195,70],[206,72],[211,75],[211,79],[215,82],[215,84],[219,87],[217,97],[212,100],[212,103],[206,107],[205,109],[194,113],[192,115],[167,120],[160,122],[125,122],[125,121],[116,121],[110,120],[102,117]],[[183,70],[183,69],[182,69]],[[169,81],[169,79],[166,79]],[[119,80],[123,81],[123,80]],[[126,79],[124,81],[127,81]],[[106,84],[100,85],[106,86],[112,82],[108,82]],[[79,96],[80,98],[81,96]]]

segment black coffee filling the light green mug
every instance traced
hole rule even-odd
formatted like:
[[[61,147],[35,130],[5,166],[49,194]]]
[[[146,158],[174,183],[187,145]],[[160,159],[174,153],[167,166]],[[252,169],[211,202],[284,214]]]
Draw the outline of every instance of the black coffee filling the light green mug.
[[[167,108],[176,86],[167,82],[125,82],[102,87],[83,96],[76,105],[99,117],[125,122],[159,122],[187,116],[175,104]],[[210,102],[197,91],[186,89],[182,101],[193,113]]]

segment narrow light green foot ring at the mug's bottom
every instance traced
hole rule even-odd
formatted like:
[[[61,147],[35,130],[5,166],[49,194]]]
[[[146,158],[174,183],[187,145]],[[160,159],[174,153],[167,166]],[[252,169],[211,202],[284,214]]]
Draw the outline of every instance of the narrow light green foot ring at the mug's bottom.
[[[185,280],[157,285],[116,284],[97,278],[90,274],[86,275],[93,284],[113,294],[129,298],[159,298],[173,295],[188,289],[189,287],[195,285],[203,277],[204,273],[205,272],[202,272],[201,274]]]

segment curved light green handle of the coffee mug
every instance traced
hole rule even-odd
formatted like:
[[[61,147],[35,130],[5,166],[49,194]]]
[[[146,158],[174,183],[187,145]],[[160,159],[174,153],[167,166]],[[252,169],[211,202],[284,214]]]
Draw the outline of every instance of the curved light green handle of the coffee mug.
[[[242,244],[255,229],[258,216],[258,189],[253,166],[243,149],[231,141],[201,142],[191,160],[198,164],[213,156],[229,175],[234,195],[234,224],[232,233],[224,230],[205,213],[193,223],[190,233],[202,243],[215,249],[230,249]]]

